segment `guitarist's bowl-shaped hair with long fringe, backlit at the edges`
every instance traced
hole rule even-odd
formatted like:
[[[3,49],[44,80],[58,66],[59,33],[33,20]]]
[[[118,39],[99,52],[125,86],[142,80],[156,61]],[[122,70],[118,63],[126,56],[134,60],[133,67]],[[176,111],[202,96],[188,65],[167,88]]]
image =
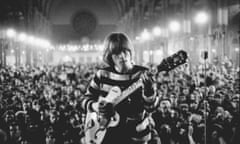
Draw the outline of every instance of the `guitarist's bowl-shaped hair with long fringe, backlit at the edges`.
[[[111,33],[105,39],[105,50],[103,52],[103,61],[109,66],[113,66],[112,55],[120,54],[121,52],[130,52],[131,57],[133,55],[133,46],[128,38],[128,36],[124,33]]]

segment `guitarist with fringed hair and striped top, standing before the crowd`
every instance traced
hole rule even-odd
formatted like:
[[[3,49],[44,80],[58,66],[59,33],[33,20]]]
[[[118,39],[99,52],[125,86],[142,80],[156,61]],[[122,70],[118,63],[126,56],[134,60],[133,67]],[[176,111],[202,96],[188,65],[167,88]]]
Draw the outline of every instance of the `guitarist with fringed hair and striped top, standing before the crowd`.
[[[157,105],[153,79],[145,73],[148,69],[133,63],[133,47],[128,36],[123,33],[111,33],[106,38],[103,60],[108,66],[96,72],[87,93],[80,100],[82,109],[109,118],[116,112],[120,115],[118,125],[107,129],[102,144],[147,143],[151,139],[152,126],[146,113],[151,113]],[[143,79],[143,86],[116,106],[111,103],[103,105],[98,101],[113,86],[124,91],[140,78]]]

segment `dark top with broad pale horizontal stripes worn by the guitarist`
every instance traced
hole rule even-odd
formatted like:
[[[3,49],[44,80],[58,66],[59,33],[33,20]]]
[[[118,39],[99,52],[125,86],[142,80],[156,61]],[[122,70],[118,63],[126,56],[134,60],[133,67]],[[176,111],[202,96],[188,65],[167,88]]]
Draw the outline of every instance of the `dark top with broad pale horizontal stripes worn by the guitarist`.
[[[147,68],[137,65],[128,74],[117,73],[111,67],[98,70],[89,84],[86,95],[81,100],[83,110],[87,111],[89,105],[97,101],[99,96],[106,96],[113,86],[118,86],[124,91],[140,78],[144,83],[147,80],[145,77],[147,70]],[[141,131],[137,131],[136,128],[146,119],[146,110],[149,112],[150,109],[155,107],[157,100],[155,93],[148,96],[143,93],[143,88],[139,87],[115,106],[115,110],[120,115],[120,123],[117,127],[110,128],[111,130],[107,132],[104,138],[104,144],[115,143],[116,139],[121,143],[130,143],[124,141],[127,139],[135,142],[149,140],[151,126]],[[123,131],[124,133],[122,133]]]

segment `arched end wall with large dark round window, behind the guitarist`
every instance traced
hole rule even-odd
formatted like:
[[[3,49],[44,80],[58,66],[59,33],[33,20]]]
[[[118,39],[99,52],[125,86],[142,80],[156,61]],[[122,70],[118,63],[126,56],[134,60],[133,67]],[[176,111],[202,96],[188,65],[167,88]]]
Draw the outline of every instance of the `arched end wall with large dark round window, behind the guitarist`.
[[[116,30],[134,0],[51,0],[49,20],[57,41],[102,39]],[[64,37],[63,37],[64,35]]]

